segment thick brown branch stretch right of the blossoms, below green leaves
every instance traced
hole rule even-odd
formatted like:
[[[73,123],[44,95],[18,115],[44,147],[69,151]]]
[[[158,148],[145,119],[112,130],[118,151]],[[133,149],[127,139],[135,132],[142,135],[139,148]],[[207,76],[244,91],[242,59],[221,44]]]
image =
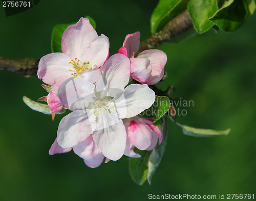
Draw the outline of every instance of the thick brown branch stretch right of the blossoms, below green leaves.
[[[162,42],[185,32],[192,26],[192,20],[187,10],[185,10],[170,20],[160,32],[153,34],[150,38],[143,41],[140,44],[137,54],[141,53],[145,49],[153,49],[159,46]]]

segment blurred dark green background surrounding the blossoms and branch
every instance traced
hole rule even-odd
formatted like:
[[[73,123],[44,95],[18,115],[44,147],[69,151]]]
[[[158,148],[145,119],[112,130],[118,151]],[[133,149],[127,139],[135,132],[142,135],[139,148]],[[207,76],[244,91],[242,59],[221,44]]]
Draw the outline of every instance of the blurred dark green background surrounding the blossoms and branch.
[[[157,1],[50,1],[6,17],[0,8],[0,56],[40,58],[51,52],[55,24],[90,15],[96,31],[110,38],[115,54],[126,34],[150,36],[150,16]],[[181,123],[224,130],[228,136],[185,136],[168,121],[165,154],[152,185],[136,185],[127,157],[92,169],[73,152],[50,156],[57,115],[29,109],[23,95],[46,95],[37,77],[0,72],[0,200],[147,200],[148,194],[219,195],[255,193],[256,185],[256,14],[234,33],[209,31],[178,44],[162,44],[174,96],[193,100]]]

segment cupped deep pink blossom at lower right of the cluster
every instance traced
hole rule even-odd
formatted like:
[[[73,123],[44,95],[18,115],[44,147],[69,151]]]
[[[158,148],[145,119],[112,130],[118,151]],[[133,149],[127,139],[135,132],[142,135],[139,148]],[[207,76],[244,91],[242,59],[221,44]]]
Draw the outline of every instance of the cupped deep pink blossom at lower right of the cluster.
[[[156,146],[158,139],[159,144],[162,142],[163,131],[152,123],[153,119],[140,116],[124,120],[127,133],[124,155],[137,158],[139,155],[134,153],[134,146],[140,150],[151,150]]]

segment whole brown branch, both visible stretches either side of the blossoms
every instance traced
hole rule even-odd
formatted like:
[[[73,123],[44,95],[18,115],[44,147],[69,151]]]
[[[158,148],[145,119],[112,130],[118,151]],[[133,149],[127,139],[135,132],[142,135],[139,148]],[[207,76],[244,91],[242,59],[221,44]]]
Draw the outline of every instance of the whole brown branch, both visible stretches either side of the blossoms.
[[[192,20],[187,11],[184,11],[170,20],[166,26],[158,33],[152,35],[140,44],[139,51],[152,49],[160,45],[162,42],[169,40],[171,37],[185,32],[192,27]],[[12,72],[22,73],[26,77],[35,76],[38,69],[39,59],[11,59],[0,57],[0,69]]]

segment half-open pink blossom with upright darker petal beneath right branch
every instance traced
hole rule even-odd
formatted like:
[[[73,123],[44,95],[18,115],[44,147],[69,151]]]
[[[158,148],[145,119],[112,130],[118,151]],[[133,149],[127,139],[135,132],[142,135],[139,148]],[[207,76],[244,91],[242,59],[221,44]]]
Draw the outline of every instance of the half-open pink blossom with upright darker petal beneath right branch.
[[[134,58],[139,46],[140,32],[128,34],[118,53],[130,58],[131,77],[134,80],[141,84],[154,85],[163,78],[167,56],[158,49],[147,49]]]

